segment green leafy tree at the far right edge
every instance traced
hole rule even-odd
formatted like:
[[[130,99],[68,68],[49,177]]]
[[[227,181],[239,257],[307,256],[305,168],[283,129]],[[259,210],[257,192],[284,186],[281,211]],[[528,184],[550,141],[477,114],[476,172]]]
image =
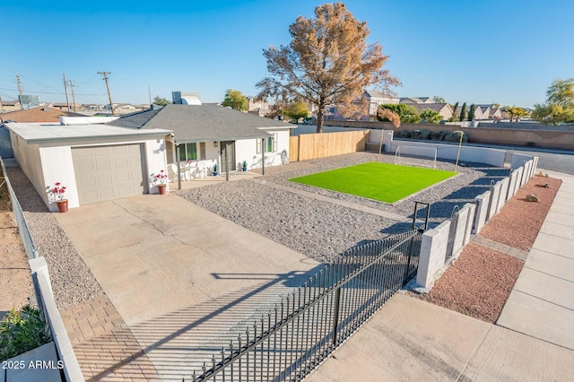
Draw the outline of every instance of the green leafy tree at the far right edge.
[[[546,91],[546,102],[535,104],[532,118],[552,125],[574,122],[574,78],[554,80]]]

